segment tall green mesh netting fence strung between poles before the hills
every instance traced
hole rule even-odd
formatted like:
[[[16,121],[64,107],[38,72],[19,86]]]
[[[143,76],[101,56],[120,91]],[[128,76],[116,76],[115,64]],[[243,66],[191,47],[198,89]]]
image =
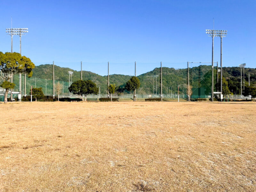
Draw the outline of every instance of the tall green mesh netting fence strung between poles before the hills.
[[[31,86],[42,87],[45,95],[57,95],[53,93],[53,65],[52,63],[36,63],[31,78],[22,74],[21,93],[29,95]],[[161,97],[161,63],[60,63],[54,62],[55,84],[60,83],[62,90],[60,97],[76,97],[68,91],[72,82],[81,79],[81,65],[83,80],[92,80],[98,87],[98,95],[88,95],[88,97],[108,96],[108,74],[109,84],[116,84],[116,96],[132,97],[132,92],[125,89],[126,82],[136,76],[140,79],[140,88],[136,90],[137,98],[157,98]],[[136,72],[135,72],[136,65]],[[72,74],[69,71],[73,72]],[[39,78],[40,77],[40,78]],[[15,84],[14,92],[19,92],[19,74],[13,76]],[[219,91],[215,86],[217,83],[217,68],[214,67],[214,92]],[[187,63],[162,62],[162,95],[163,98],[188,98],[188,69]],[[191,98],[209,98],[212,88],[212,66],[194,65],[189,68],[189,84],[192,86]]]

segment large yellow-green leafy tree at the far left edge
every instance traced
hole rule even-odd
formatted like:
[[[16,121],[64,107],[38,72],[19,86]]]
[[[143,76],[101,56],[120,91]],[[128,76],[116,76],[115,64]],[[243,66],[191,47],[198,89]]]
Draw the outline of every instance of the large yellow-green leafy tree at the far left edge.
[[[0,52],[0,77],[3,81],[10,82],[10,79],[16,73],[26,73],[28,77],[31,77],[33,68],[35,68],[35,64],[29,58],[21,56],[20,53]],[[3,86],[7,87],[4,94],[4,103],[7,103],[9,89],[13,88],[10,88],[12,84],[7,83],[3,84]]]

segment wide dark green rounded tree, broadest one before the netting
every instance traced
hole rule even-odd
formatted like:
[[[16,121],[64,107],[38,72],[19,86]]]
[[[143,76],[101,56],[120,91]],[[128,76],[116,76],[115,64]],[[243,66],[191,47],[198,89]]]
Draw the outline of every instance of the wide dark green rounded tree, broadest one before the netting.
[[[97,95],[99,92],[99,88],[95,83],[93,83],[91,80],[78,80],[75,81],[68,87],[69,92],[73,92],[74,94],[78,94],[81,96],[81,99],[83,100],[83,95],[84,95],[84,100],[86,101],[86,96],[88,94],[95,94]]]

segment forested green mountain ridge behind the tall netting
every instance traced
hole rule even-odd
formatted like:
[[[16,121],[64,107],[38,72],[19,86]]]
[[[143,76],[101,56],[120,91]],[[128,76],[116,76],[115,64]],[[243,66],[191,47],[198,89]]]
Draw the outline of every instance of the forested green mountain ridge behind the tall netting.
[[[189,68],[189,80],[190,84],[194,89],[204,87],[205,90],[211,90],[211,78],[212,78],[212,67],[208,65],[200,65],[198,67]],[[54,76],[55,81],[64,82],[64,91],[68,94],[68,82],[69,76],[68,71],[73,71],[72,82],[77,81],[81,78],[81,71],[72,70],[71,68],[62,68],[59,66],[54,66]],[[178,86],[180,87],[180,94],[186,94],[186,85],[187,85],[187,69],[174,69],[174,68],[162,68],[163,72],[163,94],[169,94],[169,87],[172,90],[172,93],[178,92]],[[216,82],[216,74],[217,70],[215,67],[214,70],[214,81]],[[256,83],[256,69],[255,68],[245,68],[245,84],[248,84],[248,73],[250,73],[250,83]],[[152,75],[159,75],[153,80]],[[152,71],[141,74],[138,76],[140,79],[140,88],[137,91],[137,94],[153,94],[156,92],[157,86],[157,94],[160,94],[160,68],[155,68]],[[36,78],[36,80],[34,80]],[[109,82],[110,84],[116,84],[119,86],[118,92],[127,92],[124,90],[125,83],[131,78],[128,75],[110,75]],[[223,78],[228,81],[228,88],[234,94],[240,94],[240,68],[238,67],[224,67],[223,68]],[[14,78],[14,83],[17,85],[18,76],[16,75]],[[84,80],[92,80],[97,86],[100,86],[101,94],[107,93],[107,84],[108,84],[108,76],[100,76],[96,73],[92,73],[90,71],[83,71],[83,79]],[[70,79],[71,81],[71,79]],[[153,85],[154,81],[154,85]],[[33,69],[33,76],[27,79],[27,92],[29,91],[30,85],[36,87],[43,87],[43,91],[45,90],[45,85],[47,84],[47,93],[52,92],[52,64],[45,64],[36,66]],[[66,82],[66,83],[65,83]],[[157,85],[156,85],[157,84]],[[49,89],[49,90],[48,90]],[[215,89],[215,88],[214,88]],[[44,91],[45,92],[45,91]]]

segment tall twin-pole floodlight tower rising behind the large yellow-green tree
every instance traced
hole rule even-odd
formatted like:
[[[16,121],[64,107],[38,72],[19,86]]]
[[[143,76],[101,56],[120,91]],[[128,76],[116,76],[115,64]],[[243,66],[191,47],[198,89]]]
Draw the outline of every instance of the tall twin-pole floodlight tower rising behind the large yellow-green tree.
[[[26,35],[26,33],[28,33],[28,28],[6,28],[7,35],[10,35],[11,38],[14,35],[18,35],[20,36],[20,54],[21,54],[21,36],[22,35]],[[12,43],[12,42],[11,42]],[[11,49],[12,49],[12,45],[11,45]],[[25,75],[26,78],[26,75]],[[26,87],[26,85],[25,85]],[[20,94],[21,94],[21,73],[20,73],[20,90],[19,90]],[[19,99],[20,101],[21,99]]]

